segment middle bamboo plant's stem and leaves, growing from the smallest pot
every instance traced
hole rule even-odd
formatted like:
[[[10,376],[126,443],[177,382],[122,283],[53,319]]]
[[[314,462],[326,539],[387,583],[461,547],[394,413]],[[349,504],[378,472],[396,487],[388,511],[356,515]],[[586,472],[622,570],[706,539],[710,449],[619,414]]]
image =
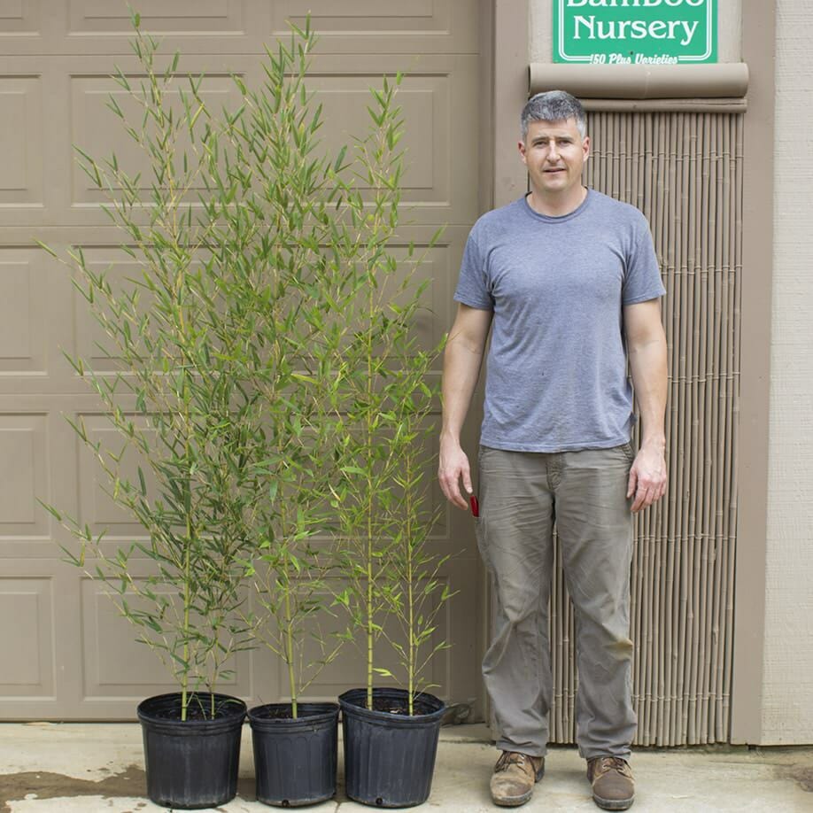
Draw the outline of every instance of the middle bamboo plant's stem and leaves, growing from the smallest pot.
[[[252,91],[236,78],[239,111],[228,117],[228,166],[213,163],[213,200],[236,188],[241,205],[221,212],[226,231],[247,235],[243,257],[252,269],[240,298],[256,314],[264,363],[252,386],[264,405],[262,453],[253,470],[267,483],[246,561],[258,610],[247,614],[255,638],[282,659],[292,716],[298,698],[337,655],[340,639],[323,630],[332,568],[324,506],[332,478],[329,452],[349,331],[343,312],[358,294],[355,265],[363,251],[345,150],[319,143],[321,106],[306,88],[316,37],[292,26],[290,44],[267,50],[266,79]],[[239,225],[237,223],[239,222]],[[306,647],[317,647],[314,658]]]

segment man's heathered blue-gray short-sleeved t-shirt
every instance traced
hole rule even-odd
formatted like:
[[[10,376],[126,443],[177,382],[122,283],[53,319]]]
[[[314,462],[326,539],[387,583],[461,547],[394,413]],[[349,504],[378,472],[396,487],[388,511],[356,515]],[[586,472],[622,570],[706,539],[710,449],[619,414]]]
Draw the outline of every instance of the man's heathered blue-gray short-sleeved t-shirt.
[[[630,439],[623,305],[665,293],[647,220],[589,190],[547,217],[521,197],[471,229],[454,298],[491,310],[480,443],[520,452]]]

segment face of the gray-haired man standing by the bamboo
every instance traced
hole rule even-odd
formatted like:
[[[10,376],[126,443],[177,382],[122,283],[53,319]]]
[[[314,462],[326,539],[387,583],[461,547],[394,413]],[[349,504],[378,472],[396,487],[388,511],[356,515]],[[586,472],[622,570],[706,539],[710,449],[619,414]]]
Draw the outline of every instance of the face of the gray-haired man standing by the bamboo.
[[[590,139],[579,135],[575,119],[530,121],[519,151],[531,188],[541,195],[564,197],[581,187]]]

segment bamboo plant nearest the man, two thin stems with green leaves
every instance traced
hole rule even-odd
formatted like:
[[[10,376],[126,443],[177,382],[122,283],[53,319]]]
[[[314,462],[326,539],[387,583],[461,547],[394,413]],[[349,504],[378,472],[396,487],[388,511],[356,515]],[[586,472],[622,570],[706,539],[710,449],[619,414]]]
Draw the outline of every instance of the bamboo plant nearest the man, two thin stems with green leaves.
[[[427,376],[439,348],[418,352],[415,346],[427,285],[416,283],[416,272],[425,252],[419,255],[410,244],[399,256],[396,247],[405,158],[399,147],[404,120],[396,105],[400,82],[397,75],[373,91],[370,131],[355,145],[359,187],[368,196],[356,187],[347,197],[364,251],[357,295],[352,307],[345,308],[356,329],[342,348],[345,375],[339,400],[344,413],[336,445],[340,477],[332,487],[332,506],[344,545],[341,569],[347,584],[337,603],[349,612],[347,638],[364,650],[367,707],[373,708],[376,676],[396,677],[376,665],[383,637],[404,667],[413,714],[425,666],[419,650],[434,632],[438,608],[426,610],[425,605],[430,599],[443,603],[449,593],[437,592],[437,570],[445,560],[428,555],[424,544],[432,524],[421,471],[425,419],[433,397]],[[432,237],[427,252],[439,235]],[[400,622],[401,639],[387,631],[391,616]]]

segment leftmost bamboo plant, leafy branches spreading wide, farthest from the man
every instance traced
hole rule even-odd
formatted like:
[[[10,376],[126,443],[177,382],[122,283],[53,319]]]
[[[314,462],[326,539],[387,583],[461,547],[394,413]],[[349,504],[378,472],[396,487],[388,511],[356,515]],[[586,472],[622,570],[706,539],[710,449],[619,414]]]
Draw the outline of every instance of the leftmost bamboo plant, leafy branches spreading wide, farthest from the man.
[[[146,540],[115,546],[104,531],[45,507],[79,542],[66,547],[69,560],[105,583],[137,639],[166,664],[186,720],[203,690],[210,701],[196,713],[215,715],[215,685],[229,659],[252,645],[238,610],[262,483],[251,465],[263,448],[262,393],[251,375],[260,326],[239,296],[251,272],[244,235],[217,228],[234,190],[217,190],[217,205],[194,200],[213,155],[222,154],[202,79],[175,96],[178,55],[159,69],[158,43],[140,31],[137,14],[133,23],[144,79],[134,87],[120,70],[115,79],[137,114],[115,97],[109,107],[150,174],[128,173],[115,154],[102,161],[77,151],[138,270],[121,283],[110,268],[94,270],[81,248],[61,261],[105,331],[100,348],[114,372],[66,358],[97,393],[120,446],[103,446],[81,417],[72,425],[106,476],[105,492],[143,526]],[[134,458],[137,476],[130,476],[125,466]],[[134,575],[138,560],[151,564],[149,576]]]

